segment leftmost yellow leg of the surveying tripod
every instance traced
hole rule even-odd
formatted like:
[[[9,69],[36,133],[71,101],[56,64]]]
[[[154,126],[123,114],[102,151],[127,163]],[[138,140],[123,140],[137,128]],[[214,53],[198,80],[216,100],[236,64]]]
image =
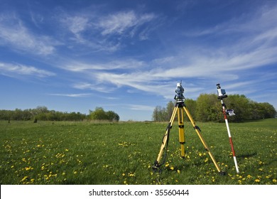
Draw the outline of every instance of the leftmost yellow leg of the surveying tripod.
[[[165,131],[165,135],[163,136],[163,141],[162,141],[162,144],[161,144],[160,152],[158,153],[158,158],[156,159],[156,161],[154,162],[154,166],[152,167],[154,170],[157,170],[158,167],[163,165],[163,163],[165,161],[166,149],[167,149],[167,146],[168,146],[168,139],[169,139],[170,129],[172,128],[177,109],[178,109],[177,107],[175,107],[173,109],[173,114],[171,115],[170,122],[168,123],[168,127],[166,128],[166,131]],[[164,153],[163,161],[161,162],[163,152],[165,152],[165,153]]]

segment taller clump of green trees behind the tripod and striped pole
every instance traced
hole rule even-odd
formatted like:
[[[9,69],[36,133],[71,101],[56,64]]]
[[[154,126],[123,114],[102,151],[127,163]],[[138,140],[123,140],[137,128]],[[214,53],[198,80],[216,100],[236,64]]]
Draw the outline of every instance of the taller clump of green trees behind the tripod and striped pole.
[[[234,109],[235,115],[228,117],[229,122],[245,122],[255,119],[276,117],[276,109],[268,102],[254,102],[245,95],[228,95],[223,99],[227,109]],[[175,102],[168,102],[166,107],[157,106],[153,110],[152,119],[155,122],[170,120]],[[193,119],[199,122],[224,122],[222,104],[215,94],[201,94],[196,100],[185,99]],[[185,117],[185,120],[189,120]]]

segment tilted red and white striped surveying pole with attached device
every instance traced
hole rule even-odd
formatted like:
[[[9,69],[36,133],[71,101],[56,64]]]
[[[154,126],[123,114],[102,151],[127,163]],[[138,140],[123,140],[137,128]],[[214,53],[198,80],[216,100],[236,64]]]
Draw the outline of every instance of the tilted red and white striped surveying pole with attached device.
[[[221,104],[222,104],[222,111],[223,111],[223,114],[224,114],[224,120],[225,120],[225,123],[226,123],[227,132],[228,132],[228,136],[229,136],[229,141],[230,141],[232,154],[233,154],[233,158],[234,158],[234,166],[236,167],[237,173],[239,173],[239,166],[237,164],[237,157],[236,157],[236,154],[234,152],[234,144],[233,144],[233,141],[232,141],[231,131],[229,129],[229,123],[228,123],[228,119],[227,119],[227,113],[230,116],[232,116],[232,115],[234,115],[234,110],[232,110],[232,109],[227,110],[226,109],[226,105],[223,103],[223,98],[227,97],[227,95],[225,93],[225,90],[222,90],[219,84],[217,84],[217,92],[218,92],[218,95],[219,95],[218,99],[220,99]]]

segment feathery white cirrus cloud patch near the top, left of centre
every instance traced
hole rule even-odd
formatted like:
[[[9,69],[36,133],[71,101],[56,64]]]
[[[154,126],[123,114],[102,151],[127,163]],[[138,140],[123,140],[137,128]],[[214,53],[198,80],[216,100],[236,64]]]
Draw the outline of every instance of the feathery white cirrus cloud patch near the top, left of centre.
[[[155,14],[139,14],[134,10],[102,14],[85,11],[82,14],[63,13],[59,21],[69,31],[71,41],[99,51],[114,52],[122,48],[122,37],[146,40],[153,31]],[[151,26],[151,28],[149,28]]]

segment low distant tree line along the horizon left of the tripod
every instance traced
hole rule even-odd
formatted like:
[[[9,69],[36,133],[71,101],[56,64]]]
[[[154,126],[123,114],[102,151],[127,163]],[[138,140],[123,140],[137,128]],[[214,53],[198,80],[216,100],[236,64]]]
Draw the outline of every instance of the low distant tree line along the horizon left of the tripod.
[[[83,121],[85,119],[119,122],[119,115],[112,111],[105,112],[102,107],[96,107],[94,111],[89,110],[88,115],[80,112],[58,112],[55,110],[48,110],[45,106],[38,106],[36,109],[0,110],[0,120],[9,121]]]

